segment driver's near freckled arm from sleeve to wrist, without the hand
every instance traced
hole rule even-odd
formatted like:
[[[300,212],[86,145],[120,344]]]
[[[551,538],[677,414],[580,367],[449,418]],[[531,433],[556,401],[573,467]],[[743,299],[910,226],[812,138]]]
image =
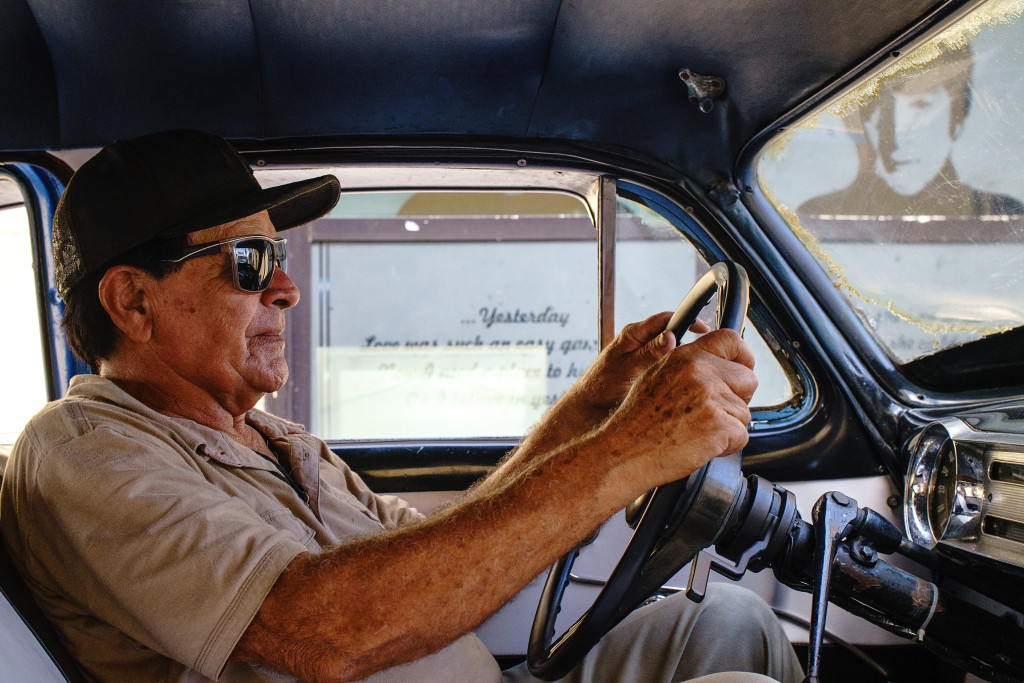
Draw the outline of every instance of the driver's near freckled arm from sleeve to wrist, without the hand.
[[[596,454],[538,456],[423,522],[297,558],[234,658],[356,680],[454,642],[625,505],[584,466]]]

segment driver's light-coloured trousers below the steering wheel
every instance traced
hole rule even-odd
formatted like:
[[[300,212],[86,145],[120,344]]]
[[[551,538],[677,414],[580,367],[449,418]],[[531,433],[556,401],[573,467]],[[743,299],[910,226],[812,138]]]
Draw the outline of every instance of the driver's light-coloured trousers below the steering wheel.
[[[767,678],[766,678],[767,677]],[[758,595],[715,583],[700,603],[679,593],[634,611],[564,683],[755,683],[804,678],[790,639]],[[523,663],[505,683],[534,683]]]

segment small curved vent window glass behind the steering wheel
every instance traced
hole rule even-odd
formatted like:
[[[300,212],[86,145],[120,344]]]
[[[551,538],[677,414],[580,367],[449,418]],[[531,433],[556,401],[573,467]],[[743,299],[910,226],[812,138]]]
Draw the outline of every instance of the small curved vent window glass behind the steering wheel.
[[[615,215],[615,331],[660,310],[675,310],[709,268],[697,250],[664,216],[618,198]],[[715,303],[701,313],[714,325]],[[780,405],[794,397],[793,385],[750,321],[743,338],[754,350],[758,389],[754,408]],[[689,336],[685,338],[689,341]]]

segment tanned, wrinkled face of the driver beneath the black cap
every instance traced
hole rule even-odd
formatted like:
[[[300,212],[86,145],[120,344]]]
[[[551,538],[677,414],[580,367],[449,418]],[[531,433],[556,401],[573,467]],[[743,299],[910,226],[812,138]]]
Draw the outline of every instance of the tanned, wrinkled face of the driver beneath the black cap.
[[[250,234],[278,237],[265,211],[188,238],[202,244]],[[274,270],[263,292],[242,292],[232,282],[230,256],[210,254],[184,261],[154,292],[152,341],[175,375],[233,415],[285,384],[284,311],[298,302],[299,291],[284,270]]]

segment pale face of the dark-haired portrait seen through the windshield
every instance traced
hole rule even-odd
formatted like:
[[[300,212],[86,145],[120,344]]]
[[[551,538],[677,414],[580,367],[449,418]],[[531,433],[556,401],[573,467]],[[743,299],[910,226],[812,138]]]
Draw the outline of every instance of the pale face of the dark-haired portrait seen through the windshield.
[[[893,191],[915,195],[938,175],[949,157],[949,93],[938,86],[880,97],[864,123],[864,133],[877,153],[874,171]]]

